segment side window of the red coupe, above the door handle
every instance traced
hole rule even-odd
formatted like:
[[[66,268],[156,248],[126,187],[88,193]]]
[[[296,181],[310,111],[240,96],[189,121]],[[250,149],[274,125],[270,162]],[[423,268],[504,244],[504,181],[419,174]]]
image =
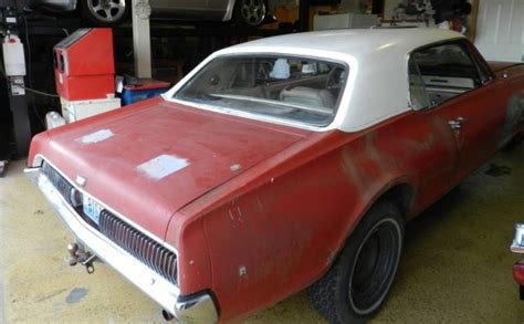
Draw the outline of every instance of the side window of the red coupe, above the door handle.
[[[426,48],[413,52],[409,59],[413,109],[439,105],[483,83],[478,64],[462,42]]]

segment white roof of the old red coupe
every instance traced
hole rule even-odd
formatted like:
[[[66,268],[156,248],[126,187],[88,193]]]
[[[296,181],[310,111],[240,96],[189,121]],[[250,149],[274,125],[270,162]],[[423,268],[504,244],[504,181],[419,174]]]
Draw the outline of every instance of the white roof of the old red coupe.
[[[412,28],[328,30],[261,39],[216,52],[165,97],[171,98],[196,71],[219,55],[281,53],[335,60],[349,66],[349,80],[334,122],[315,130],[358,132],[410,109],[407,62],[411,51],[458,38],[463,36],[453,31]]]

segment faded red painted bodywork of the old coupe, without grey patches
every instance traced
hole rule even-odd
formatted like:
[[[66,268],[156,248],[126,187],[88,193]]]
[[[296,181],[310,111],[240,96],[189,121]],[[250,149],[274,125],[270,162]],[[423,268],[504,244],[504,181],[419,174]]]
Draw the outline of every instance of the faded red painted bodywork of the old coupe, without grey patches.
[[[316,281],[388,189],[412,189],[409,219],[486,161],[510,96],[524,88],[514,69],[510,81],[359,133],[300,130],[157,98],[39,135],[30,160],[42,154],[70,178],[84,175],[88,192],[165,238],[179,251],[181,293],[212,291],[229,320]],[[460,134],[448,125],[457,117],[468,119]],[[75,142],[99,129],[115,136]],[[157,181],[136,171],[160,154],[191,165]]]

